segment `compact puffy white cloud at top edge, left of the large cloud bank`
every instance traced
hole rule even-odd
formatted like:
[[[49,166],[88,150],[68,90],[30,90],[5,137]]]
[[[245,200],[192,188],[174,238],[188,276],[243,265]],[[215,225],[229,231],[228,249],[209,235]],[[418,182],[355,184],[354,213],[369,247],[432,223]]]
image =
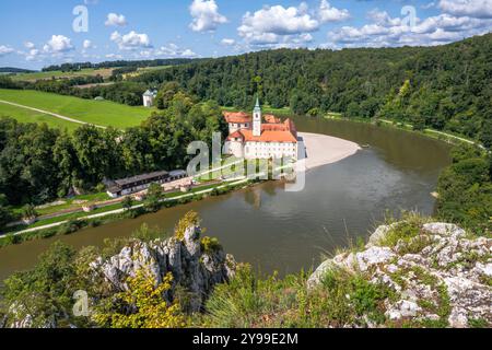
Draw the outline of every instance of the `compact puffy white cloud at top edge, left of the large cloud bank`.
[[[192,18],[189,26],[194,32],[213,32],[220,24],[227,22],[227,19],[219,13],[215,0],[194,0],[189,13]]]

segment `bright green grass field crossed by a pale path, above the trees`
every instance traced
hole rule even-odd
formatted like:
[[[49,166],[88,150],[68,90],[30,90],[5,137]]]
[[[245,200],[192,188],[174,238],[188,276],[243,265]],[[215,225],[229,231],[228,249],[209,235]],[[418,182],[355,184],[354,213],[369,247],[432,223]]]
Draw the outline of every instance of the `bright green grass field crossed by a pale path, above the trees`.
[[[0,89],[0,100],[56,113],[83,122],[121,129],[140,125],[151,114],[151,110],[143,106],[130,107],[108,101],[83,100],[32,90]],[[11,116],[23,122],[46,122],[51,127],[69,130],[80,127],[79,124],[2,103],[0,116]]]

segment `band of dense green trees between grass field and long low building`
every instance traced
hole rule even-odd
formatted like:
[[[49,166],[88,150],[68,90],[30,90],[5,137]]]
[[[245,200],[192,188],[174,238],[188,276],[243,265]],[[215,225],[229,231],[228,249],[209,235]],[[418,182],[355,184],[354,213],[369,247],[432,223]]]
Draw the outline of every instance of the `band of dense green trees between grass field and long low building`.
[[[156,170],[183,168],[195,140],[211,144],[226,131],[216,103],[197,103],[186,94],[125,131],[82,126],[73,135],[46,125],[0,119],[0,217],[9,205],[40,205],[75,187],[92,190],[105,178]]]

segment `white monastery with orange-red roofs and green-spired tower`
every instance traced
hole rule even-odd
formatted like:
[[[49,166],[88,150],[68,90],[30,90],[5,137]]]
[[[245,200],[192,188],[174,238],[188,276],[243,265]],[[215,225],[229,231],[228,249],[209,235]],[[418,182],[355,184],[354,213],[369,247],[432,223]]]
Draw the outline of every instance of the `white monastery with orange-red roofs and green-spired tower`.
[[[244,159],[297,160],[297,130],[291,119],[281,121],[272,115],[261,114],[259,100],[253,116],[239,113],[224,113],[230,136],[225,142],[226,153]]]

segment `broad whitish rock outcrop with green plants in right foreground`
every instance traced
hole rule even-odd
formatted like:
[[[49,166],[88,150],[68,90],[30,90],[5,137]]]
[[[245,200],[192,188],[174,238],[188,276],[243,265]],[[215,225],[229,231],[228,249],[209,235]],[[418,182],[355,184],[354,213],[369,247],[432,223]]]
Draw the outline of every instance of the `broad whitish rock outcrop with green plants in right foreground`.
[[[393,298],[383,307],[393,325],[408,320],[450,327],[492,325],[492,240],[471,237],[446,223],[403,230],[402,225],[380,226],[364,250],[325,261],[308,287],[320,284],[329,269],[342,268],[391,290]]]

